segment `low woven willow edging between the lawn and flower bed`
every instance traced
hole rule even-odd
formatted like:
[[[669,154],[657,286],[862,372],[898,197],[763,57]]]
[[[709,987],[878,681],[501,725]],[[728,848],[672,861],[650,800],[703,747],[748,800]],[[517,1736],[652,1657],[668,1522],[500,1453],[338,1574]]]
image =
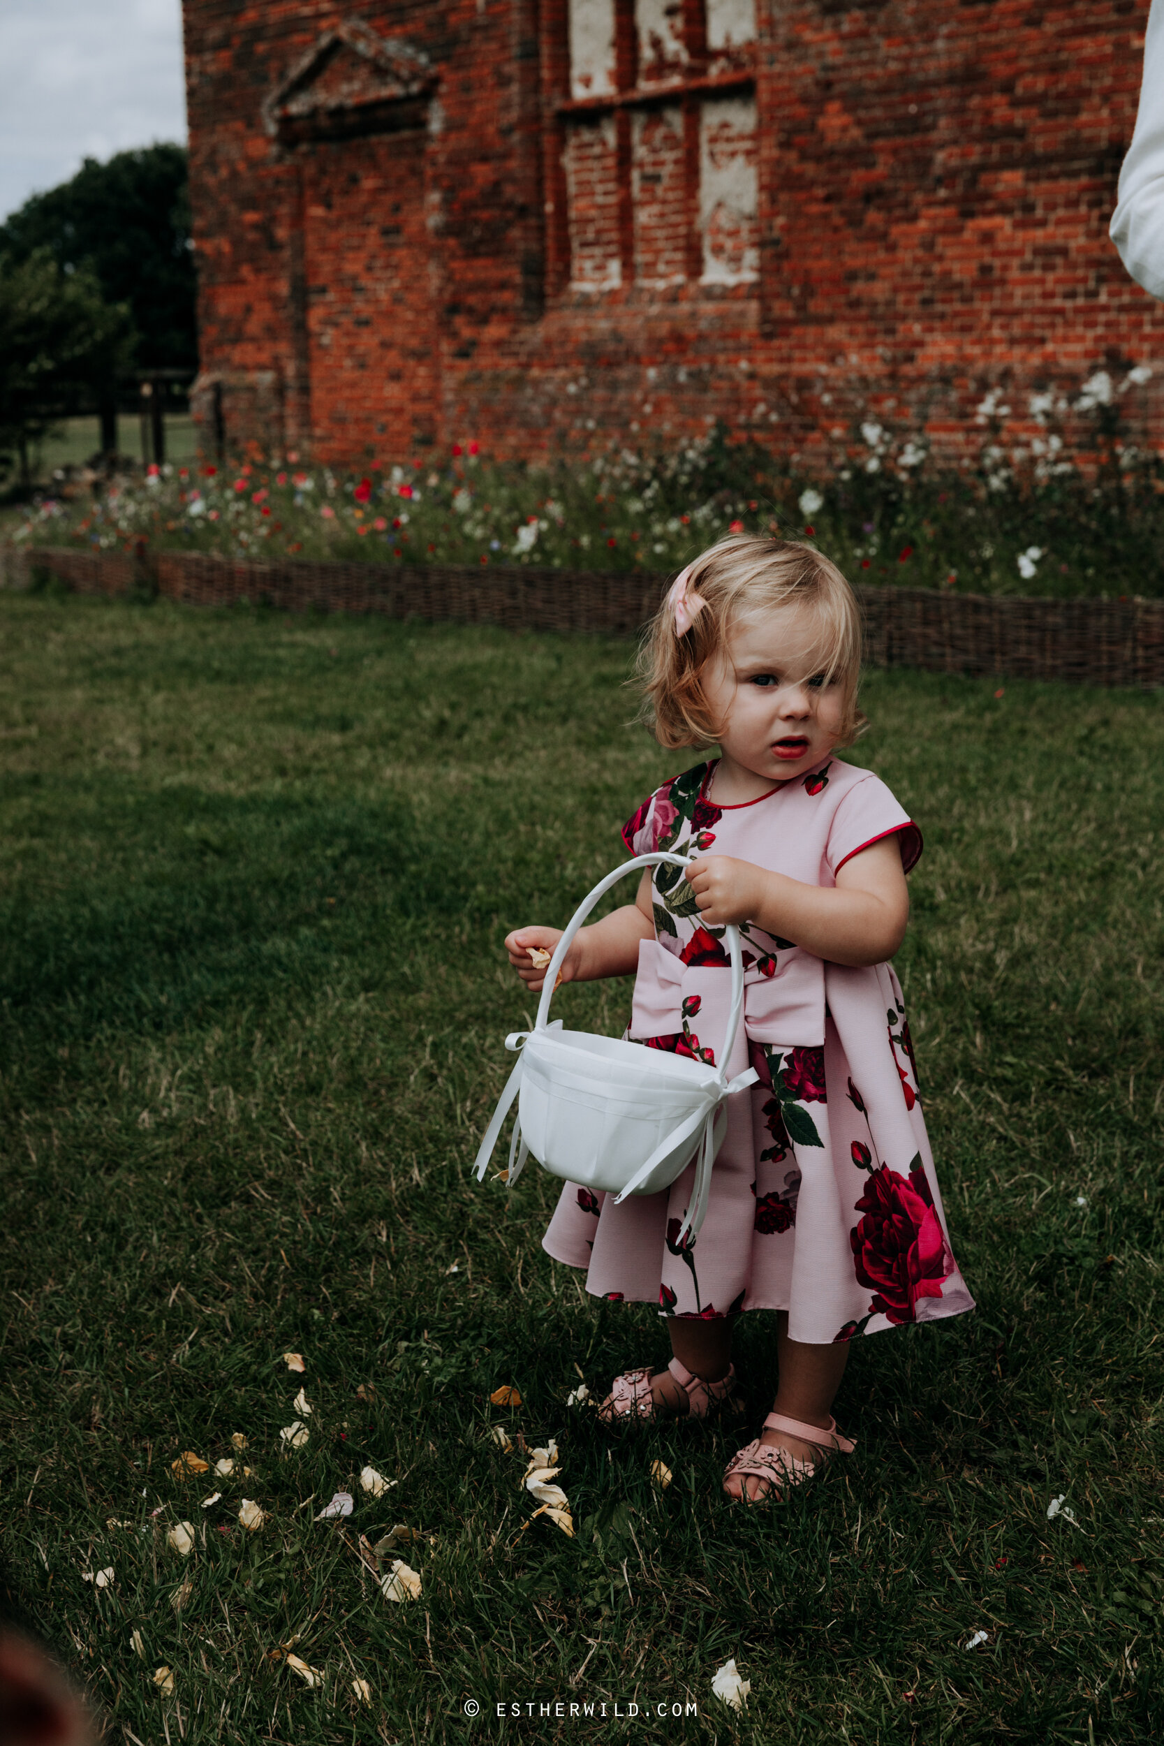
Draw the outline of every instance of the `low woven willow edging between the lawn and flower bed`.
[[[0,562],[3,553],[0,552]],[[284,613],[384,613],[506,630],[633,636],[658,606],[665,576],[614,576],[534,566],[253,564],[202,552],[7,552],[0,583],[52,574],[79,594],[162,594],[227,606],[269,602]],[[1056,601],[857,588],[874,667],[1068,679],[1150,690],[1164,684],[1164,601]]]

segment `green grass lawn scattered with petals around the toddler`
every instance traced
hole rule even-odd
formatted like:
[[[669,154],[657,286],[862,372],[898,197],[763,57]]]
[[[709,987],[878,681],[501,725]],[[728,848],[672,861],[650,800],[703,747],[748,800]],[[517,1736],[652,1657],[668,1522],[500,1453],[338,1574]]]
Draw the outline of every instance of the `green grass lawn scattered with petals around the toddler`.
[[[633,1702],[668,1741],[1159,1741],[1161,702],[871,676],[855,756],[927,833],[899,967],[979,1311],[859,1343],[857,1454],[747,1510],[742,1437],[567,1407],[665,1329],[548,1261],[551,1179],[468,1173],[529,1004],[506,927],[565,920],[677,768],[625,725],[627,665],[0,595],[7,1578],[145,1746],[517,1737],[497,1702],[548,1741],[646,1736]],[[628,985],[562,1011],[614,1032]],[[770,1316],[736,1360],[757,1426]],[[496,1425],[557,1437],[572,1540]],[[358,1550],[394,1524],[426,1536],[386,1554],[403,1603]]]

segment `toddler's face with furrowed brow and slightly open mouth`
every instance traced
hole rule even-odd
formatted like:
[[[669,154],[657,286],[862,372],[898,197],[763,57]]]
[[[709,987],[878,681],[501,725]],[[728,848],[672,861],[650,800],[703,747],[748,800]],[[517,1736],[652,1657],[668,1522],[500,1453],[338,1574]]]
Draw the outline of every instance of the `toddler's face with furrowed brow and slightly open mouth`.
[[[815,770],[841,737],[845,693],[815,665],[820,634],[806,606],[740,618],[707,697],[724,723],[724,760],[768,782]]]

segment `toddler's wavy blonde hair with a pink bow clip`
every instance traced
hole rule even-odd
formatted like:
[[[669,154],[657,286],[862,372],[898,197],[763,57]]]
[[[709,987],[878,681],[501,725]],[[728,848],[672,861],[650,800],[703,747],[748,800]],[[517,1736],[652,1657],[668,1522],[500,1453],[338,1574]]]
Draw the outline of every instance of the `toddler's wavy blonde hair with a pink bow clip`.
[[[642,719],[660,746],[710,746],[722,723],[716,721],[703,674],[724,655],[733,627],[780,606],[808,606],[817,616],[818,672],[843,686],[841,737],[852,746],[866,726],[857,707],[860,677],[860,608],[841,571],[822,552],[799,540],[763,540],[735,534],[709,546],[688,573],[688,597],[698,597],[691,627],[679,636],[668,599],[646,629],[637,677]]]

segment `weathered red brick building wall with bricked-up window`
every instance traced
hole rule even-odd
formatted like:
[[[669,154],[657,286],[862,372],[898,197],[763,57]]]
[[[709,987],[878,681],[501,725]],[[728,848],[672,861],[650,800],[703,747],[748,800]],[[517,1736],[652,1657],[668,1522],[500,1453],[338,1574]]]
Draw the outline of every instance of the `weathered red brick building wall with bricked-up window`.
[[[1164,363],[1147,0],[185,0],[204,440],[955,443]],[[1161,372],[1157,372],[1161,374]]]

